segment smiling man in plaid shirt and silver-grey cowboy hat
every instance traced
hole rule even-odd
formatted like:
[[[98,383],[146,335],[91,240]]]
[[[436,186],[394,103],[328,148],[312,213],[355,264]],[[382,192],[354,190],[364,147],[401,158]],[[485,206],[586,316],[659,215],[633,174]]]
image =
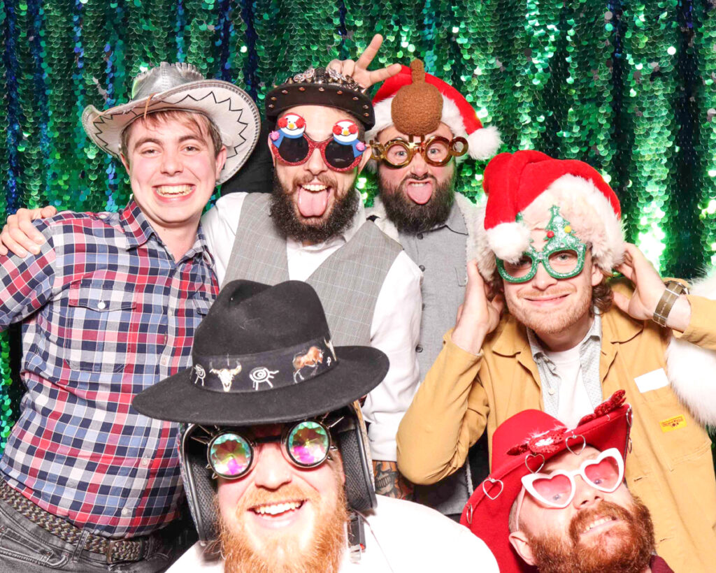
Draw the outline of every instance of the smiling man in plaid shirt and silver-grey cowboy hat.
[[[178,426],[131,401],[190,364],[218,293],[201,213],[258,122],[233,84],[189,64],[148,69],[129,102],[82,114],[125,165],[127,206],[37,221],[32,255],[0,255],[0,330],[24,320],[27,388],[0,461],[0,569],[150,573],[194,537]]]

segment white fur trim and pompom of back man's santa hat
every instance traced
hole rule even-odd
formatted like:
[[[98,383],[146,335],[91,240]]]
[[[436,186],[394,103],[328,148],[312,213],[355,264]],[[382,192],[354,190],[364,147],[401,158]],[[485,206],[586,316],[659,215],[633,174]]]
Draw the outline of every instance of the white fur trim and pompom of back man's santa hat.
[[[365,134],[367,142],[370,142],[371,139],[376,139],[383,129],[393,124],[391,114],[393,97],[387,97],[374,105],[375,125],[373,129],[370,129]],[[494,126],[475,129],[474,132],[468,135],[458,106],[455,105],[452,99],[444,95],[442,96],[442,117],[440,121],[450,127],[450,131],[453,132],[455,137],[465,137],[468,140],[468,153],[458,157],[458,162],[463,162],[467,155],[470,155],[475,160],[490,159],[502,145],[500,132]]]

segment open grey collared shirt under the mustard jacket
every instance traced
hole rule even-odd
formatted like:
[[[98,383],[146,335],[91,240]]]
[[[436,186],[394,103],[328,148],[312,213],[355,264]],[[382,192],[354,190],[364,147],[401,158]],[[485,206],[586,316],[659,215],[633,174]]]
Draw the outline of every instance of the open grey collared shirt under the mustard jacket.
[[[559,410],[559,389],[561,378],[556,364],[546,355],[537,335],[527,329],[527,338],[530,342],[532,358],[539,372],[544,410],[551,416],[557,417]],[[601,395],[601,381],[599,380],[599,356],[601,353],[601,317],[594,314],[594,322],[589,332],[579,343],[579,363],[581,366],[582,381],[592,408],[596,408],[603,401]]]

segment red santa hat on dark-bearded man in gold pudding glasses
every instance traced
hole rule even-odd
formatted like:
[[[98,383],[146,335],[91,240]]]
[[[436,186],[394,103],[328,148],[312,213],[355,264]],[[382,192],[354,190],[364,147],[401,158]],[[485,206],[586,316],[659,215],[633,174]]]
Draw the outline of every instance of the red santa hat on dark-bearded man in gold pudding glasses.
[[[486,160],[495,155],[502,143],[498,129],[496,127],[483,127],[475,109],[468,103],[463,94],[460,94],[450,84],[430,74],[425,74],[425,82],[435,86],[440,92],[442,96],[442,117],[440,117],[440,121],[450,127],[456,137],[465,137],[468,140],[468,155],[475,160]],[[379,132],[394,123],[392,114],[393,99],[402,87],[410,86],[412,83],[412,70],[407,66],[403,66],[399,74],[383,82],[373,97],[375,125],[366,133],[366,141],[375,139]],[[415,114],[420,114],[423,111],[420,109],[420,102],[413,99],[412,103],[415,104]],[[460,160],[459,157],[458,160]]]

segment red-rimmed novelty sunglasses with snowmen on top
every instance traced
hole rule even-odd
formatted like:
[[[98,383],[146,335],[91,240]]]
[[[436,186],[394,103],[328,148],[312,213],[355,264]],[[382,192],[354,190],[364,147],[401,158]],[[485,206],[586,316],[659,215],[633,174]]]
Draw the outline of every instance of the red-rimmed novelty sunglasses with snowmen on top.
[[[285,165],[302,165],[321,152],[324,163],[334,171],[349,171],[360,163],[365,143],[358,139],[359,129],[350,119],[342,119],[332,129],[332,137],[314,141],[306,135],[306,120],[298,114],[286,114],[276,122],[276,131],[269,135],[271,152]]]

